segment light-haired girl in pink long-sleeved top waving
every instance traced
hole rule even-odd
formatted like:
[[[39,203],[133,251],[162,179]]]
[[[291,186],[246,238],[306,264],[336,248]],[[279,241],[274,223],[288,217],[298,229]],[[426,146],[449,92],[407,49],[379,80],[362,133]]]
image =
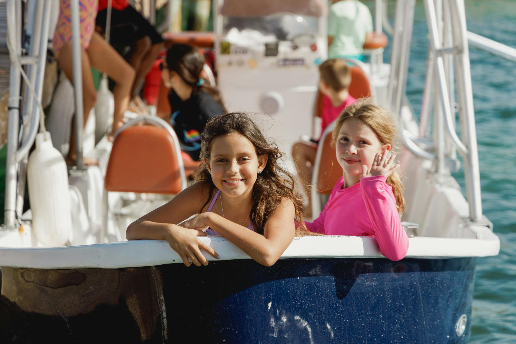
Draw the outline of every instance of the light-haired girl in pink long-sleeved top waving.
[[[391,154],[396,127],[391,114],[370,100],[347,107],[333,130],[333,144],[343,177],[309,231],[326,235],[375,236],[380,252],[391,260],[409,247],[400,216],[403,186]]]

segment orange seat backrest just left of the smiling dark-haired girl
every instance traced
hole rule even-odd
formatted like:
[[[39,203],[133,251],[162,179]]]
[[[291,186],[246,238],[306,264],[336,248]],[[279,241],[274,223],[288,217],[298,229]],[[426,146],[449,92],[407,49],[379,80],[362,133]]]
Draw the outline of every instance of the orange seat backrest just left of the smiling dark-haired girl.
[[[182,190],[176,151],[168,130],[137,125],[117,135],[106,170],[106,191],[177,194]],[[179,157],[178,157],[179,155]]]

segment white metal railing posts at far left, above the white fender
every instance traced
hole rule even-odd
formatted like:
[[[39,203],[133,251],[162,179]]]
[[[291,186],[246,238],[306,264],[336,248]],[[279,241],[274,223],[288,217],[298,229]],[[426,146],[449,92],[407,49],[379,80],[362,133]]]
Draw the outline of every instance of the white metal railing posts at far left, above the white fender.
[[[51,0],[28,4],[28,54],[22,50],[22,6],[20,1],[7,2],[7,46],[11,59],[9,89],[9,124],[6,157],[5,211],[6,227],[16,226],[17,209],[23,206],[27,157],[39,128],[44,130],[41,95],[50,26]],[[27,73],[22,66],[27,66]],[[21,78],[25,83],[25,101],[21,107]],[[23,110],[23,116],[20,116]],[[22,126],[20,127],[20,119]],[[28,130],[26,129],[28,127]],[[18,202],[18,204],[17,204]]]

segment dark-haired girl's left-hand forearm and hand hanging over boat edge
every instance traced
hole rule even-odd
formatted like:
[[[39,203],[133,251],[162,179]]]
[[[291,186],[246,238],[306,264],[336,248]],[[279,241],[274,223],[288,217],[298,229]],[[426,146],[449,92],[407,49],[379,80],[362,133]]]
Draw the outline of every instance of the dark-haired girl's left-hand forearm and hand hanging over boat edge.
[[[201,250],[218,259],[220,256],[209,245],[199,240],[198,236],[206,235],[200,230],[191,230],[171,223],[157,223],[145,219],[139,219],[127,227],[127,240],[154,239],[167,240],[170,247],[177,252],[183,263],[190,266],[192,263],[201,266],[208,265],[208,260]],[[188,261],[190,258],[191,262]]]

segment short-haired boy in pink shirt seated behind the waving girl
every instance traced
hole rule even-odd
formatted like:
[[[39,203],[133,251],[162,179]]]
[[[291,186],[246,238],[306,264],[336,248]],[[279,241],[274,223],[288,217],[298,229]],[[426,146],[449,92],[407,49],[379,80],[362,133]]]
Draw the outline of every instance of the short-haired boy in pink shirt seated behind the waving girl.
[[[320,113],[322,135],[324,129],[331,122],[335,121],[346,106],[353,104],[356,99],[348,93],[349,85],[351,84],[351,73],[347,62],[337,59],[327,60],[319,65],[319,74],[319,90],[325,96]],[[305,188],[309,203],[311,194],[310,183],[312,182],[317,143],[318,140],[297,142],[292,147],[292,158],[296,163],[297,172]],[[305,217],[311,218],[311,212],[310,204],[303,208]]]

